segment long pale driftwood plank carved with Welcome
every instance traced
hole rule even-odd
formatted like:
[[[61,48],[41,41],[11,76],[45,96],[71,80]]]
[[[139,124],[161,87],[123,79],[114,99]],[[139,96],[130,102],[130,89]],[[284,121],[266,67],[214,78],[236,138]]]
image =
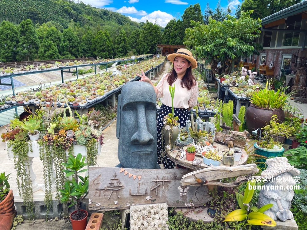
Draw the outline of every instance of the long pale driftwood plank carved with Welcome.
[[[190,172],[182,177],[181,185],[182,186],[199,186],[197,184],[194,175],[197,176],[200,179],[206,179],[209,181],[206,185],[219,185],[219,186],[226,186],[227,183],[221,183],[221,182],[210,182],[214,180],[220,180],[223,178],[229,178],[229,177],[237,177],[241,175],[251,175],[254,173],[258,173],[259,169],[257,168],[256,164],[247,164],[247,165],[239,165],[235,167],[227,167],[227,166],[218,166],[218,167],[208,167],[204,169],[200,169],[194,172]],[[245,179],[248,179],[248,177],[244,177]],[[244,182],[243,178],[237,178],[238,183]],[[239,184],[236,183],[230,183],[230,186],[238,186]],[[198,190],[197,190],[198,192]],[[198,197],[198,196],[197,196]]]

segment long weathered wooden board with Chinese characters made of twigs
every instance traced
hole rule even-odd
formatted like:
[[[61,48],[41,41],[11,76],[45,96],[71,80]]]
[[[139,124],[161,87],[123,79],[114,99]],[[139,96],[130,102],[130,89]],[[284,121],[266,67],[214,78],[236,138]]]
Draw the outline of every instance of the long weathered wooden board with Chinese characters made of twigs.
[[[89,167],[89,210],[129,209],[132,205],[167,203],[169,207],[202,206],[211,200],[207,186],[181,186],[184,169]],[[197,199],[198,198],[198,199]],[[187,204],[187,205],[186,205]]]

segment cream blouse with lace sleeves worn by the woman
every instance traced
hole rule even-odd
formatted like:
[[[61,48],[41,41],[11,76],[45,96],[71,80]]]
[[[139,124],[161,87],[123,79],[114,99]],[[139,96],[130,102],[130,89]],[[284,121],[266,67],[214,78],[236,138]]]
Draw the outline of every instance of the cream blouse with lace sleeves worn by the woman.
[[[161,98],[161,102],[164,105],[172,107],[172,98],[169,92],[169,84],[167,82],[169,73],[163,75],[156,88],[158,90],[157,98]],[[194,107],[197,105],[198,96],[198,84],[196,82],[195,86],[192,86],[191,90],[181,87],[181,79],[176,79],[172,86],[175,85],[175,96],[173,100],[174,108],[184,108]]]

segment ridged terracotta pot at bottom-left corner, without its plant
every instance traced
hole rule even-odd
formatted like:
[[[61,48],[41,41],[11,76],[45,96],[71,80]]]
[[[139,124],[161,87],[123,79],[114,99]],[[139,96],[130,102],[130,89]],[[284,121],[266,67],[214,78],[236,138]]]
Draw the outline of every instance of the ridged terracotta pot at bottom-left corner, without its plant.
[[[0,203],[0,229],[10,230],[12,228],[13,220],[16,214],[14,207],[13,190]]]

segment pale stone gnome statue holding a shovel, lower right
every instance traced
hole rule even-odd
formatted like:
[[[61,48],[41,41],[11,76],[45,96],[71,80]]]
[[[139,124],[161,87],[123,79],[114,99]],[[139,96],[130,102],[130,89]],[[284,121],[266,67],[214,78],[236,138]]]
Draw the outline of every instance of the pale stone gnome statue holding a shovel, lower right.
[[[300,171],[291,166],[286,157],[267,159],[266,164],[268,167],[261,173],[262,180],[267,180],[264,183],[266,189],[260,190],[258,208],[273,204],[274,206],[266,210],[264,214],[273,220],[279,219],[283,222],[287,219],[291,220],[293,219],[290,211],[294,195],[293,186],[296,184],[293,177],[298,176]]]

